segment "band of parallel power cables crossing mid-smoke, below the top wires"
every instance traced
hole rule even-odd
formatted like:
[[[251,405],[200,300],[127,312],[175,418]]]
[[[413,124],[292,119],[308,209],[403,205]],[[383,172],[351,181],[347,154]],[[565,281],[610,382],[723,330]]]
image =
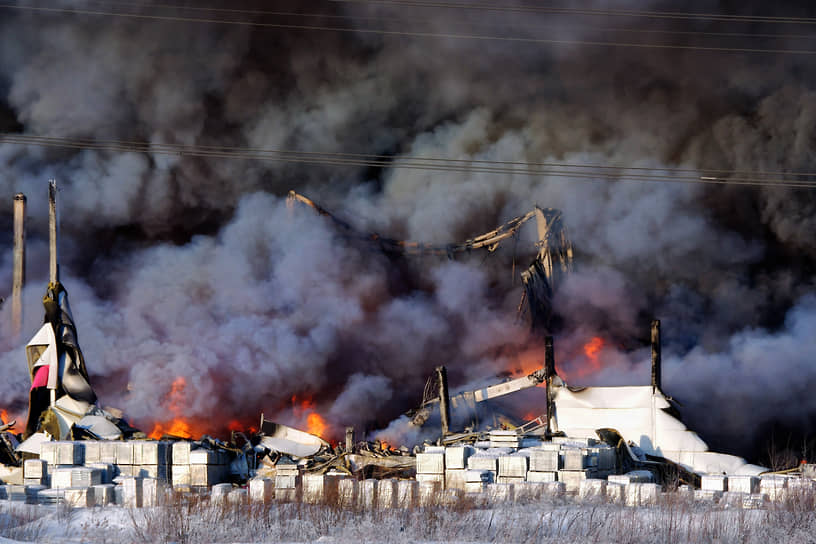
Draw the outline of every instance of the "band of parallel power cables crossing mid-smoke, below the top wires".
[[[400,168],[465,174],[525,175],[575,180],[620,180],[648,183],[704,183],[763,187],[816,188],[816,173],[762,172],[725,169],[627,167],[553,162],[452,159],[446,157],[387,156],[362,153],[315,152],[287,149],[152,143],[122,140],[57,138],[0,134],[0,143],[77,150],[178,155],[210,159],[240,159],[323,166]],[[813,179],[811,179],[813,178]]]

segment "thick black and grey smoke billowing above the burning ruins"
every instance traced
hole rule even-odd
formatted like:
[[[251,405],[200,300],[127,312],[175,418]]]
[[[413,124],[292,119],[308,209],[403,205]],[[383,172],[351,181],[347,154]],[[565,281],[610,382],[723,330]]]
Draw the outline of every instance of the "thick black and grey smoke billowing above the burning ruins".
[[[0,131],[395,159],[816,171],[816,55],[710,50],[816,51],[807,21],[398,4],[20,2],[63,11],[0,9]],[[816,17],[808,2],[692,4],[580,7]],[[647,383],[657,317],[664,389],[713,445],[759,459],[771,430],[813,429],[812,190],[12,144],[0,144],[0,165],[0,296],[11,291],[11,203],[22,191],[24,335],[33,334],[55,177],[61,279],[88,369],[101,403],[137,424],[168,417],[181,376],[187,402],[173,415],[217,426],[254,423],[263,411],[303,424],[307,401],[335,429],[374,430],[420,401],[439,364],[455,390],[540,358],[516,319],[534,227],[492,254],[400,258],[340,236],[311,210],[287,210],[295,189],[360,229],[437,243],[536,204],[558,208],[576,249],[555,299],[568,381]],[[10,315],[6,303],[0,404],[20,413],[28,376]],[[605,341],[603,368],[588,372],[581,346],[594,336]]]

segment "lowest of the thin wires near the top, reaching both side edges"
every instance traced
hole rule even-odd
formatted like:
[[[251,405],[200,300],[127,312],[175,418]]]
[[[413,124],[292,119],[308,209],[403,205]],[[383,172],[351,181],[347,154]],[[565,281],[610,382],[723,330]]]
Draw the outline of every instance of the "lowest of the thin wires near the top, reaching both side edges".
[[[458,4],[456,4],[458,5]],[[414,37],[414,38],[445,38],[456,40],[483,40],[483,41],[499,41],[510,43],[536,43],[549,45],[584,45],[594,47],[624,47],[635,49],[662,49],[662,50],[683,50],[683,51],[699,51],[699,52],[721,52],[721,53],[763,53],[763,54],[788,54],[788,55],[816,55],[816,50],[812,49],[784,49],[784,48],[762,48],[762,47],[726,47],[726,46],[709,46],[709,45],[684,45],[684,44],[655,44],[655,43],[637,43],[637,42],[621,42],[610,40],[570,40],[570,39],[554,39],[554,38],[536,38],[524,36],[501,36],[488,35],[477,33],[463,33],[463,32],[422,32],[411,30],[387,30],[382,28],[348,28],[341,26],[328,25],[308,25],[308,24],[290,24],[290,23],[271,23],[262,21],[249,20],[228,20],[228,19],[214,19],[208,17],[189,17],[180,15],[159,15],[150,13],[132,13],[122,11],[105,11],[98,9],[80,9],[80,8],[64,8],[64,7],[48,7],[48,6],[24,6],[17,4],[0,4],[0,9],[14,9],[24,11],[34,11],[41,13],[61,13],[61,14],[75,14],[75,15],[89,15],[89,16],[109,16],[122,17],[130,19],[141,19],[151,21],[175,21],[187,23],[206,23],[217,25],[237,25],[253,28],[267,28],[267,29],[291,29],[291,30],[313,30],[322,32],[341,32],[353,34],[372,34],[391,37]]]

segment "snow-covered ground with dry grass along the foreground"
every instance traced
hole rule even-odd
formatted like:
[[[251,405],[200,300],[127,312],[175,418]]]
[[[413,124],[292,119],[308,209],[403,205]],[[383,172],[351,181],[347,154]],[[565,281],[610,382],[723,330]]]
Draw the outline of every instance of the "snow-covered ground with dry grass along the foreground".
[[[333,505],[211,505],[179,499],[156,508],[71,509],[0,502],[0,544],[130,542],[813,542],[813,493],[762,509],[726,508],[664,495],[625,507],[550,498],[484,507],[352,511]]]

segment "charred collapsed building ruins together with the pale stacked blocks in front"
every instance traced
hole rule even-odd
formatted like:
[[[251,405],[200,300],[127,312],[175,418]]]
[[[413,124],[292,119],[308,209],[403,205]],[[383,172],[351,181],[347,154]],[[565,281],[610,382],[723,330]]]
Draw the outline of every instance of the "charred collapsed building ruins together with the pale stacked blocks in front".
[[[234,431],[229,440],[209,436],[160,439],[132,427],[125,414],[97,403],[78,334],[60,283],[57,261],[56,187],[49,185],[50,281],[45,319],[25,347],[31,381],[22,430],[0,427],[0,498],[74,506],[160,504],[168,493],[195,493],[211,501],[339,501],[355,508],[397,508],[476,501],[535,501],[543,495],[603,498],[650,504],[663,492],[694,500],[762,507],[791,490],[812,488],[811,465],[771,474],[743,459],[709,451],[685,427],[677,404],[661,387],[660,322],[651,328],[651,383],[622,387],[573,387],[558,375],[551,328],[553,289],[572,268],[572,247],[559,212],[536,207],[499,228],[461,244],[409,243],[355,231],[311,200],[291,193],[331,219],[344,234],[383,251],[452,255],[492,251],[527,221],[536,220],[538,253],[521,276],[523,306],[532,327],[545,335],[545,360],[532,373],[476,390],[451,393],[444,366],[436,369],[416,409],[413,427],[437,430],[420,445],[389,445],[322,437],[267,420]],[[15,198],[14,326],[20,326],[24,282],[25,197]],[[22,366],[21,366],[22,369]],[[22,370],[21,370],[22,371]],[[521,425],[482,416],[490,401],[541,388],[539,415]],[[438,424],[436,423],[438,421]],[[364,437],[362,437],[364,438]],[[679,491],[676,491],[679,490]]]

